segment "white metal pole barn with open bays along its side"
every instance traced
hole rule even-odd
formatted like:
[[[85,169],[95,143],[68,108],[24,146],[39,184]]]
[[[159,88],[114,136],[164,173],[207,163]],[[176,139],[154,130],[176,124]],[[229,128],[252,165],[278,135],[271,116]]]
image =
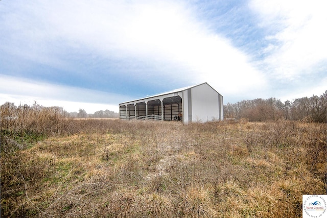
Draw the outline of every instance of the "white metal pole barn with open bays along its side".
[[[175,89],[119,104],[121,119],[207,122],[223,120],[223,96],[207,83]]]

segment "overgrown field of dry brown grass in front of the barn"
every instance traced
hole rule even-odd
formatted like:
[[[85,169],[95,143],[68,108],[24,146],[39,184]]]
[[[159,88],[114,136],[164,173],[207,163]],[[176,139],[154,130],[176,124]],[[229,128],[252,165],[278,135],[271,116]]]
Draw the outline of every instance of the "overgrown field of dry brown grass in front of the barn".
[[[1,138],[2,217],[301,217],[326,124],[68,120]]]

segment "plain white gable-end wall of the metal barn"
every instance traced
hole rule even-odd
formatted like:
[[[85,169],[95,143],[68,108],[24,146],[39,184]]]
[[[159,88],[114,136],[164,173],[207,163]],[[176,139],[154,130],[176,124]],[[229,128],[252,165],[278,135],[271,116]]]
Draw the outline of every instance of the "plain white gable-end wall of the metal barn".
[[[192,88],[192,121],[219,120],[219,94],[207,84]]]

